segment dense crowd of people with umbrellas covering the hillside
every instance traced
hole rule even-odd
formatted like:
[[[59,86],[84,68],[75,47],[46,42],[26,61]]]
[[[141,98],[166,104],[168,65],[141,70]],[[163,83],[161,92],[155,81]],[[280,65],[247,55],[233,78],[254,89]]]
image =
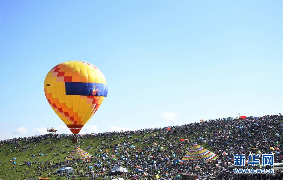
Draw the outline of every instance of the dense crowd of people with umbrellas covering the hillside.
[[[88,161],[65,162],[61,156],[57,159],[60,161],[54,164],[44,162],[38,166],[32,162],[30,166],[33,166],[36,171],[25,178],[37,177],[48,172],[58,176],[58,179],[61,176],[70,179],[82,177],[112,179],[113,176],[108,173],[109,170],[122,166],[127,168],[128,172],[114,175],[125,179],[149,179],[156,174],[161,179],[174,179],[181,172],[198,174],[199,179],[282,179],[282,170],[276,170],[274,174],[249,175],[237,175],[229,170],[229,167],[233,165],[234,154],[246,154],[247,159],[248,154],[273,153],[275,163],[283,162],[282,120],[281,114],[244,119],[223,118],[182,126],[79,135],[78,145],[93,155]],[[75,147],[70,142],[71,138],[72,135],[67,134],[49,134],[2,140],[1,150],[5,147],[8,152],[0,153],[4,156],[6,153],[8,155],[14,152],[23,154],[36,148],[36,146],[31,147],[31,143],[53,145],[53,141],[62,140],[64,141],[62,147],[53,145],[49,148],[56,156],[59,156],[69,153],[64,148]],[[187,140],[180,141],[180,139]],[[94,146],[95,141],[98,141],[96,146]],[[181,163],[180,160],[193,143],[204,146],[219,157],[209,162]],[[74,171],[63,174],[56,172],[62,166],[73,167]],[[89,168],[90,166],[92,168]],[[245,166],[247,167],[249,165]]]

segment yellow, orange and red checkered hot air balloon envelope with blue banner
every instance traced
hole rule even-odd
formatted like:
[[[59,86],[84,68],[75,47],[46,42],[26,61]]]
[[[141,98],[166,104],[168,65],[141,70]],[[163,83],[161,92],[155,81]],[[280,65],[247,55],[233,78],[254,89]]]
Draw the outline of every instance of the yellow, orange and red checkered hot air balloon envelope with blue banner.
[[[73,134],[78,134],[98,110],[108,88],[103,73],[83,61],[53,67],[44,80],[48,103]]]

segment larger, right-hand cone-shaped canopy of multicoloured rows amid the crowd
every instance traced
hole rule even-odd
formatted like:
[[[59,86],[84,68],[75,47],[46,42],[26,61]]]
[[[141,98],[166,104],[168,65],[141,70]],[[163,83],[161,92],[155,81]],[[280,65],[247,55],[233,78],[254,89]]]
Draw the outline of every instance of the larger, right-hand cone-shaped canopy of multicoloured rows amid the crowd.
[[[195,143],[182,158],[181,163],[212,161],[217,158],[218,156],[216,154]]]

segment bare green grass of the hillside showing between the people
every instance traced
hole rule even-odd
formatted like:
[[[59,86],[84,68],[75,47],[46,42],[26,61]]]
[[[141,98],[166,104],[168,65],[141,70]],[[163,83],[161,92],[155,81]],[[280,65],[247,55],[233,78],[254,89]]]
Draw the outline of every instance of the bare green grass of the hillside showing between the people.
[[[283,123],[283,120],[280,120],[279,123]],[[215,128],[215,127],[209,127],[206,131],[209,132],[209,133],[213,133],[213,130],[221,130],[219,128]],[[156,132],[155,132],[156,133]],[[209,136],[209,133],[207,133],[206,135]],[[270,132],[270,133],[277,133],[277,131],[273,131]],[[147,133],[145,134],[145,137],[148,137],[148,136],[151,136],[153,135],[154,133]],[[193,134],[190,134],[190,137],[193,139],[193,138],[198,138],[200,137],[200,134],[201,134],[201,130],[198,130],[196,132],[194,132]],[[90,154],[92,155],[95,155],[95,153],[98,153],[98,154],[102,154],[102,152],[98,152],[98,149],[100,148],[98,146],[98,143],[103,141],[103,142],[106,142],[108,144],[122,144],[122,142],[124,140],[132,140],[133,142],[133,139],[142,139],[143,135],[131,135],[132,138],[131,139],[128,139],[126,136],[122,137],[121,139],[117,140],[117,142],[113,139],[117,138],[117,135],[111,137],[111,139],[105,139],[103,138],[102,136],[100,136],[100,139],[98,137],[89,137],[89,138],[85,138],[85,139],[81,139],[81,142],[77,143],[77,145],[80,145],[81,148],[87,152],[89,152]],[[280,136],[282,137],[282,134],[280,134]],[[182,137],[182,135],[176,135],[174,136],[173,138],[171,138],[171,143],[173,143],[172,141],[174,142],[177,142],[179,141],[180,138],[184,138]],[[203,138],[205,138],[205,136],[203,136]],[[282,137],[283,138],[283,137]],[[66,142],[66,140],[68,140],[68,142]],[[89,150],[86,150],[86,148],[88,146],[90,146],[90,141],[92,140],[92,149],[89,149]],[[48,143],[48,141],[51,141],[51,143]],[[162,146],[162,145],[165,145],[167,144],[166,140],[161,140],[161,139],[158,139],[155,141],[159,146]],[[69,145],[68,147],[66,147],[66,144]],[[281,144],[281,143],[280,143]],[[27,146],[29,144],[25,144],[23,141],[20,141],[20,145],[21,147],[23,146]],[[63,145],[65,145],[65,147],[63,147]],[[144,140],[140,141],[140,142],[136,142],[136,143],[132,143],[132,145],[136,146],[136,147],[145,147],[145,146],[151,146],[151,144],[147,144],[147,143],[144,143]],[[207,148],[209,150],[210,146],[207,144],[207,143],[201,143],[200,144],[201,146],[203,146],[204,148]],[[65,138],[63,140],[53,140],[52,138],[48,138],[46,140],[44,140],[43,142],[41,142],[40,144],[34,142],[34,143],[31,143],[31,146],[27,149],[31,149],[33,148],[32,150],[30,151],[25,151],[25,152],[17,152],[17,151],[9,151],[9,155],[5,155],[5,153],[8,152],[8,148],[5,148],[6,146],[8,146],[8,144],[3,144],[2,146],[0,146],[0,161],[2,161],[2,165],[0,166],[0,179],[4,180],[4,179],[13,179],[13,180],[18,180],[18,179],[30,179],[30,176],[31,175],[34,175],[34,174],[38,174],[35,172],[35,170],[37,169],[37,165],[42,165],[44,166],[44,164],[31,164],[31,166],[27,166],[25,165],[24,161],[49,161],[49,160],[52,160],[54,161],[54,163],[57,163],[57,162],[63,162],[65,161],[65,156],[68,156],[69,155],[69,152],[75,147],[75,144],[72,143],[72,140],[71,138]],[[15,147],[16,145],[15,144],[11,144],[11,147]],[[53,146],[57,146],[54,151],[50,150]],[[11,148],[9,147],[10,149],[14,149],[14,148]],[[185,154],[186,152],[186,149],[188,148],[188,146],[184,146],[184,151],[182,152],[182,154]],[[58,151],[58,149],[62,149],[63,151],[65,151],[65,153],[62,153],[60,151]],[[166,147],[165,147],[166,149]],[[109,152],[111,152],[111,149],[106,149],[108,150]],[[122,150],[118,150],[118,152],[121,152]],[[19,155],[21,153],[21,155]],[[31,155],[34,154],[34,155],[38,155],[40,153],[43,153],[43,154],[48,154],[48,156],[38,156],[39,159],[37,160],[36,158],[34,159],[31,159]],[[53,155],[54,153],[59,153],[60,156],[56,156],[56,155]],[[120,155],[115,155],[116,158]],[[11,162],[9,162],[13,157],[15,157],[17,160],[15,160],[17,162],[17,164],[15,165],[16,168],[13,168],[13,164]],[[58,160],[58,158],[60,158],[60,160]],[[20,165],[21,164],[21,165]],[[94,166],[95,167],[95,166]],[[74,172],[76,174],[77,170],[79,169],[82,169],[82,170],[85,170],[85,167],[81,167],[81,168],[76,168],[76,167],[73,167],[74,168]],[[42,176],[41,177],[48,177],[48,173],[52,173],[52,172],[55,172],[57,169],[53,169],[52,171],[48,171],[48,170],[45,170],[44,172],[42,171]],[[130,169],[128,169],[129,171],[131,171]],[[24,174],[26,173],[26,171],[30,171],[31,174],[28,174],[27,176],[24,176]],[[38,176],[36,176],[37,178]],[[32,179],[36,179],[36,178],[32,178]],[[49,178],[51,179],[54,179],[55,178],[58,178],[57,175],[50,175]],[[66,177],[61,177],[62,180],[64,179],[67,179]],[[85,178],[77,178],[77,179],[82,179],[82,180],[87,180],[88,177],[85,177]]]

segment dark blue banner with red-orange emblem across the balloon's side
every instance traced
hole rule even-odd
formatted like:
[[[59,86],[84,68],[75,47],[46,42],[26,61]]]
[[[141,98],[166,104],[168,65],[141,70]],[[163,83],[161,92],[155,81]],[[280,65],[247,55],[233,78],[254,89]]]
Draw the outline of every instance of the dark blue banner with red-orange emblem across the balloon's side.
[[[65,82],[66,95],[107,96],[106,84],[90,82]]]

